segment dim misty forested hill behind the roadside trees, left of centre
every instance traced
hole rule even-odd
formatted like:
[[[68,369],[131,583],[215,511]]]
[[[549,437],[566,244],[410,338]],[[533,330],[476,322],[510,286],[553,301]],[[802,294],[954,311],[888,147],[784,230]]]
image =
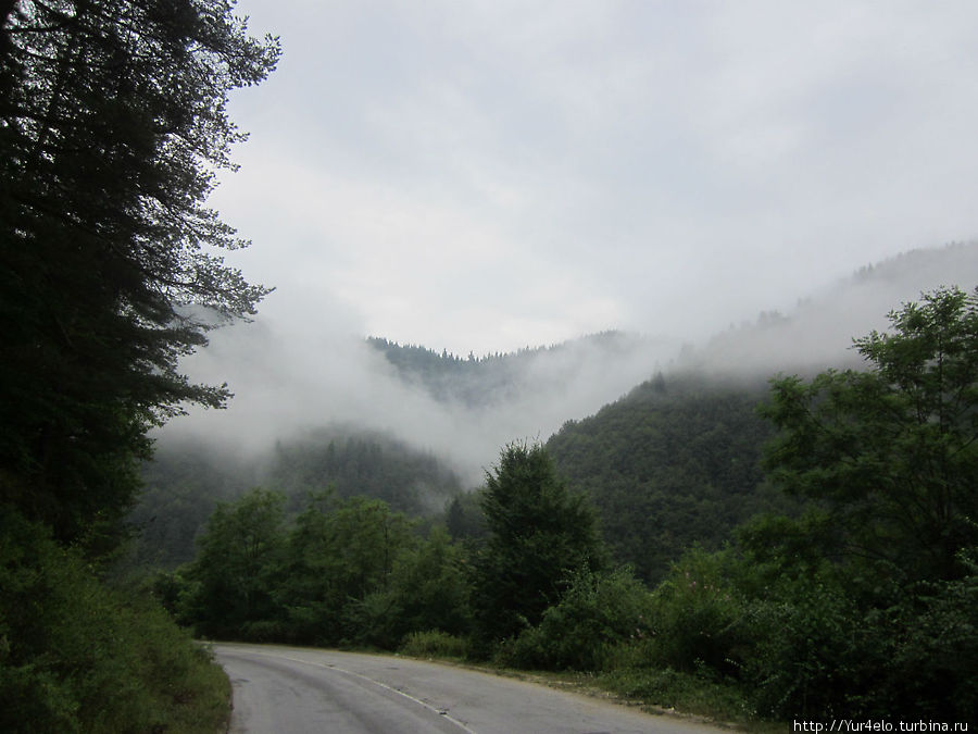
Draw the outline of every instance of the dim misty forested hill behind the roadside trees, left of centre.
[[[218,501],[254,486],[281,490],[300,510],[311,492],[383,499],[412,517],[440,512],[460,492],[459,476],[430,453],[377,432],[333,426],[278,441],[261,455],[230,456],[199,443],[168,443],[143,469],[146,488],[129,517],[137,561],[174,567],[190,560],[195,538]]]

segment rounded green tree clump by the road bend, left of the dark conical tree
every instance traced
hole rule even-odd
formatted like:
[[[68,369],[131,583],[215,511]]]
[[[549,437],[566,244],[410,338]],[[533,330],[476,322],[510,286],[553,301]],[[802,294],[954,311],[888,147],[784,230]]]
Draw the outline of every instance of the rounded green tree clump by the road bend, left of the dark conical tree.
[[[331,493],[286,527],[284,502],[254,489],[220,505],[197,559],[156,576],[199,634],[393,649],[411,632],[468,630],[461,551],[443,530],[419,536],[381,500]]]

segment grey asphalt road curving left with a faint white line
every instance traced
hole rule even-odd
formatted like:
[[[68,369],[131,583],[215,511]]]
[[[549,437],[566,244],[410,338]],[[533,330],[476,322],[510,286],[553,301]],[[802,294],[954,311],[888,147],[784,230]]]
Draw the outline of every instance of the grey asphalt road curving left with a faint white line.
[[[388,656],[215,645],[233,734],[715,734],[547,686]]]

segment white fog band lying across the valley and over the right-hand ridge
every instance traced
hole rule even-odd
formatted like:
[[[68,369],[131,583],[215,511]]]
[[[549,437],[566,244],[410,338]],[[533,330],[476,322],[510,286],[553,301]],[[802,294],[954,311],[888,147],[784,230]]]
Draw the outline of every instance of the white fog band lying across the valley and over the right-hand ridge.
[[[228,457],[260,457],[276,439],[349,424],[393,434],[430,451],[473,485],[514,439],[546,440],[569,419],[594,413],[656,371],[772,375],[856,363],[852,338],[887,326],[886,314],[921,290],[978,284],[978,246],[914,251],[840,281],[825,293],[800,294],[789,313],[752,324],[718,324],[706,344],[670,334],[669,314],[647,334],[582,339],[539,350],[504,393],[485,402],[437,399],[405,382],[364,336],[329,318],[259,316],[212,332],[211,344],[185,362],[191,378],[227,382],[226,410],[191,408],[156,438],[191,439]],[[691,294],[691,298],[695,298]],[[677,309],[682,304],[677,303]],[[397,334],[377,335],[398,340]],[[438,345],[422,345],[438,349]]]

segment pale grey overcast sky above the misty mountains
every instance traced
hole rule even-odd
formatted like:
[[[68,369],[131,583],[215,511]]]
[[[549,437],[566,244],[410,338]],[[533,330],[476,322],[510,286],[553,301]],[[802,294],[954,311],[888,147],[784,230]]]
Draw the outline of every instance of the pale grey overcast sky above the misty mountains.
[[[697,338],[978,235],[974,0],[238,13],[284,55],[212,204],[269,316],[463,356]]]

